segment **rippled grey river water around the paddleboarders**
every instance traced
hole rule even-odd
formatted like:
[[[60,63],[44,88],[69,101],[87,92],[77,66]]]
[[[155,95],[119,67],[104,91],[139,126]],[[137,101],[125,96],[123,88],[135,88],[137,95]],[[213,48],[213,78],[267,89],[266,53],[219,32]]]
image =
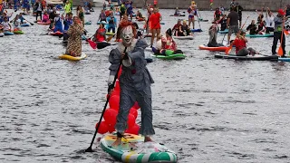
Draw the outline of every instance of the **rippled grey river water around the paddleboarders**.
[[[88,35],[96,29],[95,11],[85,17],[93,23],[85,26]],[[160,13],[165,32],[179,17]],[[212,20],[213,12],[200,14]],[[247,15],[248,23],[256,19]],[[148,64],[155,80],[153,139],[174,149],[181,163],[290,162],[289,63],[215,59],[198,50],[208,43],[210,23],[200,25],[204,32],[194,40],[178,41],[187,59]],[[114,46],[95,51],[83,43],[87,59],[62,61],[62,40],[46,29],[34,24],[23,35],[0,38],[0,162],[116,162],[98,142],[96,152],[82,153],[105,103]],[[249,39],[248,46],[271,54],[272,41]],[[287,37],[287,51],[289,44]]]

